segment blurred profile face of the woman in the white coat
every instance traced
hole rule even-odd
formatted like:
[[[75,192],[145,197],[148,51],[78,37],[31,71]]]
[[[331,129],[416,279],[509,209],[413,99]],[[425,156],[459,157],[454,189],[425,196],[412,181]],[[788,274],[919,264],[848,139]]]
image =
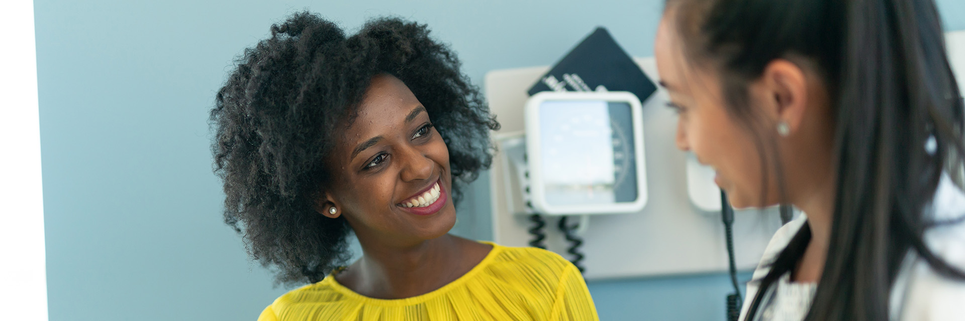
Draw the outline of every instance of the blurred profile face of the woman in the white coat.
[[[720,79],[706,68],[686,61],[674,12],[672,9],[664,13],[654,56],[661,84],[679,111],[676,146],[693,152],[703,165],[716,171],[714,180],[728,193],[734,207],[777,203],[777,180],[772,174],[766,185],[761,184],[763,169],[754,136],[727,112]],[[751,99],[755,99],[754,95],[751,93]],[[764,188],[768,189],[768,200],[760,199]]]

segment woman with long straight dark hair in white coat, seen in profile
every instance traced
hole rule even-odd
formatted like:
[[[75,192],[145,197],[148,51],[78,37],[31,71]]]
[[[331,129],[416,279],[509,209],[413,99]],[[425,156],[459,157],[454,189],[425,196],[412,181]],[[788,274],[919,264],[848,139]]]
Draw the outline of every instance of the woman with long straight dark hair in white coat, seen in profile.
[[[742,320],[962,320],[963,106],[932,0],[669,0],[676,144],[774,235]]]

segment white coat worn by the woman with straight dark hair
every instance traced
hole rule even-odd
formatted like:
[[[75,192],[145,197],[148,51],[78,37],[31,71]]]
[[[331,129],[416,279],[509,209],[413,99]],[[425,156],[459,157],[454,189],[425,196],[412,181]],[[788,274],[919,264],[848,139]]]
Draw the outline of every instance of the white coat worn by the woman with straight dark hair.
[[[942,174],[938,189],[935,191],[932,209],[937,221],[952,220],[965,215],[965,192],[959,189],[947,174]],[[758,268],[754,271],[752,280],[759,280],[767,275],[767,264],[784,250],[790,239],[806,222],[807,217],[801,215],[774,233],[764,250]],[[965,222],[927,229],[924,241],[932,252],[958,269],[965,270]],[[744,320],[751,301],[757,293],[758,284],[754,281],[748,282],[740,320]],[[802,298],[802,300],[810,300],[810,298]],[[892,287],[890,308],[892,320],[965,320],[965,281],[953,281],[938,275],[917,254],[909,252],[901,264],[896,283]],[[807,309],[801,313],[798,320],[804,319]]]

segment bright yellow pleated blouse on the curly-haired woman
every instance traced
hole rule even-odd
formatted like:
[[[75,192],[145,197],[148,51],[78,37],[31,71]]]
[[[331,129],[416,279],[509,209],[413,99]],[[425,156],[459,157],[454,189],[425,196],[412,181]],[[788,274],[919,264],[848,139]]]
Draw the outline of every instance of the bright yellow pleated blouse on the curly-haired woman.
[[[282,295],[258,320],[599,320],[583,276],[560,255],[483,243],[493,247],[483,261],[426,294],[373,299],[329,275]]]

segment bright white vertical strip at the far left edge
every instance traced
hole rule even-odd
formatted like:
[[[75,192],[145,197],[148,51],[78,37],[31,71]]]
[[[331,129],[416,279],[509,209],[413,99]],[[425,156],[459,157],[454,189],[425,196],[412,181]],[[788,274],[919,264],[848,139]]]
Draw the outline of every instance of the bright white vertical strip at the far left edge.
[[[33,0],[0,1],[0,307],[5,320],[47,320],[41,130]]]

